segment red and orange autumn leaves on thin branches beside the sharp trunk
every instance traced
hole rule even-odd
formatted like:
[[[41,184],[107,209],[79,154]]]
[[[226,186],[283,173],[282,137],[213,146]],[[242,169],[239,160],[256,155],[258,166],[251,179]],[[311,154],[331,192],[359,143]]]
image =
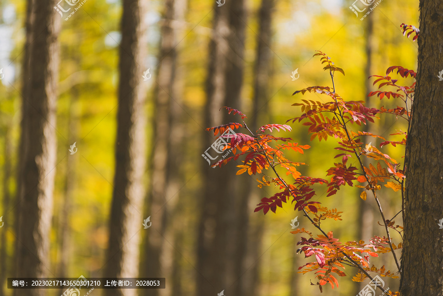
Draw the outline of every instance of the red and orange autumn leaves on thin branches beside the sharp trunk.
[[[414,40],[418,36],[418,31],[412,26],[402,24],[402,29],[408,37],[415,33]],[[345,71],[334,66],[331,58],[323,52],[317,52],[315,57],[320,58],[323,69],[329,74],[332,86],[312,86],[293,93],[296,102],[292,104],[301,110],[301,115],[289,119],[286,123],[301,123],[308,128],[311,134],[311,141],[326,141],[334,138],[337,142],[335,155],[331,155],[337,161],[332,167],[327,169],[326,178],[303,176],[297,170],[302,162],[296,162],[286,158],[285,152],[288,150],[303,154],[309,149],[309,145],[299,144],[291,138],[278,137],[276,132],[291,131],[291,127],[286,124],[267,124],[257,131],[251,131],[245,119],[245,114],[239,110],[223,107],[229,114],[240,115],[242,123],[229,123],[227,125],[207,129],[214,132],[214,135],[221,135],[228,128],[236,131],[236,134],[229,135],[230,145],[226,149],[235,147],[231,157],[224,159],[218,165],[222,166],[231,160],[241,160],[242,164],[237,165],[239,170],[237,175],[248,173],[250,175],[261,174],[257,178],[258,187],[276,186],[279,192],[271,197],[263,197],[257,204],[255,212],[262,211],[264,214],[269,210],[276,212],[282,208],[284,203],[293,205],[295,211],[303,212],[316,229],[316,234],[304,228],[291,231],[300,234],[297,245],[300,246],[298,252],[303,252],[306,258],[312,258],[312,262],[301,266],[300,272],[314,272],[316,274],[316,284],[320,291],[322,286],[329,283],[332,288],[338,286],[337,276],[346,276],[343,272],[345,265],[357,268],[353,281],[361,282],[366,278],[375,275],[397,278],[396,274],[400,270],[400,262],[395,254],[396,249],[402,248],[402,242],[394,242],[391,239],[390,231],[397,231],[402,235],[403,227],[396,225],[394,218],[387,219],[381,209],[378,194],[382,190],[401,191],[402,204],[404,200],[405,188],[405,146],[411,123],[411,104],[413,101],[415,82],[405,86],[399,83],[399,79],[412,77],[416,73],[413,70],[401,66],[391,66],[386,70],[384,76],[374,75],[374,86],[378,86],[377,91],[369,93],[369,97],[381,100],[394,99],[397,102],[395,108],[380,109],[365,106],[364,101],[353,101],[342,98],[335,89],[334,76],[345,75]],[[394,79],[395,76],[398,79]],[[300,95],[316,93],[327,98],[326,102],[300,99]],[[363,132],[362,125],[374,123],[380,116],[394,116],[398,120],[406,120],[407,131],[395,131],[391,136],[396,140],[386,139],[371,132]],[[243,131],[246,131],[243,133]],[[378,140],[380,144],[372,145],[372,142],[365,143],[365,138],[373,137],[374,142]],[[400,140],[398,140],[400,138]],[[226,140],[226,139],[225,139]],[[383,147],[392,145],[401,150],[404,156],[400,160],[395,160],[383,152]],[[368,158],[370,164],[363,158]],[[353,160],[356,165],[352,165]],[[356,161],[356,162],[355,162]],[[316,185],[316,187],[314,187]],[[321,202],[313,201],[316,195],[315,188],[318,185],[325,186],[327,196],[334,196],[345,186],[361,188],[360,197],[363,200],[374,198],[380,210],[380,225],[384,228],[385,235],[374,236],[369,242],[362,240],[341,242],[334,237],[332,231],[322,228],[322,221],[326,219],[341,220],[341,213],[337,209],[328,209],[322,206]],[[402,209],[398,209],[398,214]],[[398,215],[397,214],[397,215]],[[396,216],[397,216],[396,215]],[[401,218],[401,217],[399,217]],[[386,270],[383,266],[370,264],[371,257],[379,257],[381,254],[390,254],[396,263],[394,271]],[[371,276],[372,275],[372,276]],[[397,295],[398,292],[388,292],[390,295]]]

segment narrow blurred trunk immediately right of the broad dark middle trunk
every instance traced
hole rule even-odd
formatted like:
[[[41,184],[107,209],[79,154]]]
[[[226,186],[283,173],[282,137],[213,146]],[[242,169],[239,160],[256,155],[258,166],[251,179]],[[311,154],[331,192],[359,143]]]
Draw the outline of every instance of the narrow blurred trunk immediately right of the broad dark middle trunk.
[[[253,112],[248,123],[253,131],[268,124],[269,84],[272,65],[272,15],[275,0],[262,0],[258,10],[258,35],[256,38],[256,57],[253,78]],[[260,200],[260,192],[255,178],[247,175],[246,186],[242,190],[240,199],[239,218],[237,227],[237,252],[234,257],[235,266],[235,295],[256,296],[259,294],[259,272],[261,262],[261,246],[264,231],[264,217],[260,213],[253,213],[253,209]],[[245,183],[243,183],[245,184]],[[250,220],[250,215],[252,218]],[[258,215],[257,215],[258,214]]]

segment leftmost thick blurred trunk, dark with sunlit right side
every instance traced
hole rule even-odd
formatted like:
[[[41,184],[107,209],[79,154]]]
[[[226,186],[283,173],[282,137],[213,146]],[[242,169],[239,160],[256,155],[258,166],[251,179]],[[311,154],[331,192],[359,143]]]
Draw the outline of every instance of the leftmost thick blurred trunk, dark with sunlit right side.
[[[20,216],[17,235],[17,276],[44,277],[49,265],[56,160],[56,85],[60,19],[55,0],[35,2],[30,48],[29,100],[24,97],[26,127],[22,131]],[[25,62],[26,63],[26,62]],[[26,73],[25,73],[26,75]],[[26,95],[25,95],[26,96]],[[17,291],[17,290],[15,290]],[[20,290],[16,295],[40,296],[42,289]]]

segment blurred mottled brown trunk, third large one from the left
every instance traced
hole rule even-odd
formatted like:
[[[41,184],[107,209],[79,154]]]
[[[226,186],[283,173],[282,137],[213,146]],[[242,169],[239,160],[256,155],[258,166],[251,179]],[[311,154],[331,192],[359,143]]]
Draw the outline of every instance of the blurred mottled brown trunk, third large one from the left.
[[[151,155],[151,192],[149,195],[152,228],[146,246],[146,276],[170,278],[172,258],[175,252],[174,221],[180,221],[175,207],[179,200],[181,173],[181,144],[185,131],[182,126],[181,95],[176,82],[177,29],[176,20],[183,20],[185,0],[166,0],[161,27],[159,68],[155,89],[155,120],[153,153]],[[176,227],[180,227],[175,225]],[[172,282],[166,281],[166,289],[146,289],[146,296],[171,295]]]

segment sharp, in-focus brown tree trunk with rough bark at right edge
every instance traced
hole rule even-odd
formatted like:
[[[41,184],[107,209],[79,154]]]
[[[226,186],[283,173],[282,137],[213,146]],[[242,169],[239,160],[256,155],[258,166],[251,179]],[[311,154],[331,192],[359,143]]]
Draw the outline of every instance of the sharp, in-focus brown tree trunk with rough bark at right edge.
[[[418,69],[407,139],[400,292],[443,295],[443,69],[441,0],[420,0]]]

